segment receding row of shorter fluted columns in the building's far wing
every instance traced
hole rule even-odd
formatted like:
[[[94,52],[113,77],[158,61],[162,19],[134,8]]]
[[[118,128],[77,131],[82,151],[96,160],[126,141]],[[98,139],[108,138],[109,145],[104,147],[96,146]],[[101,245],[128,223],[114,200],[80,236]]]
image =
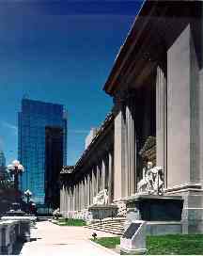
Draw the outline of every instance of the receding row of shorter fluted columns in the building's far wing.
[[[109,203],[113,200],[113,153],[91,167],[76,184],[63,184],[60,191],[60,212],[70,216],[72,212],[82,211],[93,204],[93,198],[103,189],[108,190]],[[69,175],[69,174],[67,174]]]

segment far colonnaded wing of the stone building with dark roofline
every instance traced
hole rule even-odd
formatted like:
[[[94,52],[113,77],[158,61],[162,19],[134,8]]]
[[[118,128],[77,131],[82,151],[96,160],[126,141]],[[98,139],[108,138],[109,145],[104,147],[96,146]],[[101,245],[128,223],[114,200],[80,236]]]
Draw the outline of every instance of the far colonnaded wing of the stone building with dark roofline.
[[[93,204],[93,198],[107,189],[114,200],[114,116],[109,114],[97,135],[74,167],[60,173],[60,212],[72,216]]]

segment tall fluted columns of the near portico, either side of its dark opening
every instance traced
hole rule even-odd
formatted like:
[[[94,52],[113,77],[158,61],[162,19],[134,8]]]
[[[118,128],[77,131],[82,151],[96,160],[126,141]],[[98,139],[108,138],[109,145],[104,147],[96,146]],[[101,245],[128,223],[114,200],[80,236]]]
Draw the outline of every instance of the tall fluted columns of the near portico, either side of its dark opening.
[[[137,141],[135,130],[134,91],[119,91],[115,101],[115,186],[114,200],[119,201],[133,195],[137,184]],[[166,77],[158,66],[156,75],[156,165],[162,166],[166,175]],[[138,121],[138,120],[137,120]],[[166,178],[165,185],[166,185]]]

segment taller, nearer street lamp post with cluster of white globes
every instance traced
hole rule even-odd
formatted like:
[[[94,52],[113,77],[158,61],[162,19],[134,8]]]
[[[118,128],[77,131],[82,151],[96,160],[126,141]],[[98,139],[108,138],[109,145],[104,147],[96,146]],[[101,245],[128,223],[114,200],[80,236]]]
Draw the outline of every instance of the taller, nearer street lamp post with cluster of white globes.
[[[18,190],[19,190],[19,174],[23,173],[23,166],[18,160],[14,160],[11,165],[8,165],[8,171],[12,176],[14,176],[14,188],[16,191],[16,201],[18,200]]]

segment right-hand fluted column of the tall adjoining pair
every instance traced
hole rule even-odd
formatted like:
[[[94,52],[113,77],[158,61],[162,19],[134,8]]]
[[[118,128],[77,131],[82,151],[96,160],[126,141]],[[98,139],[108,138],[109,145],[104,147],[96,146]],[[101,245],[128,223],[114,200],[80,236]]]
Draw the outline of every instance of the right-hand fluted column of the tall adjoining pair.
[[[126,196],[136,191],[136,134],[134,127],[134,95],[127,93],[126,102]]]

